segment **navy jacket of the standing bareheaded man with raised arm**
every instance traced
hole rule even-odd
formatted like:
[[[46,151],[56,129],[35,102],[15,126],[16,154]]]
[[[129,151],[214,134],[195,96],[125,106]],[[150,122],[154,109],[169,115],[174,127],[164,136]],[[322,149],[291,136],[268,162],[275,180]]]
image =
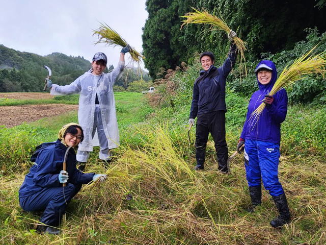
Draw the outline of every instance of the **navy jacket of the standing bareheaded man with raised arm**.
[[[194,84],[193,101],[189,118],[199,114],[226,111],[225,85],[226,78],[235,64],[237,57],[236,45],[231,43],[228,58],[217,68],[211,65],[208,71],[201,70]]]

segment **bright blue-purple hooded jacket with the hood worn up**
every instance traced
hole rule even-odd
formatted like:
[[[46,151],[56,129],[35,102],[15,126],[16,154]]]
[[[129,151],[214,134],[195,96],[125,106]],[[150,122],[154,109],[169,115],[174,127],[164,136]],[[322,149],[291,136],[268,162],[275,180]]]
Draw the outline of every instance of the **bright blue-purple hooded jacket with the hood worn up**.
[[[270,82],[262,85],[257,78],[259,90],[253,93],[250,98],[247,119],[244,122],[240,138],[259,140],[280,144],[281,142],[281,123],[285,120],[287,113],[287,93],[285,89],[281,89],[273,95],[274,101],[270,106],[266,106],[258,120],[250,118],[251,114],[257,107],[263,103],[265,95],[273,88],[277,80],[277,70],[275,64],[269,60],[261,61],[260,64],[265,64],[273,68]],[[256,67],[256,68],[257,68]]]

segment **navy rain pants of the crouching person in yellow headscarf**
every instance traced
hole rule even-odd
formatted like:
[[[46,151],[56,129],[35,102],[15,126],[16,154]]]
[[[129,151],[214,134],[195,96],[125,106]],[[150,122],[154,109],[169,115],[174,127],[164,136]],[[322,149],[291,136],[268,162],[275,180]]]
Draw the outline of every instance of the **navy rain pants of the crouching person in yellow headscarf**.
[[[82,184],[67,184],[65,188],[65,198],[67,203],[78,193]],[[57,226],[60,223],[62,215],[66,211],[63,188],[49,187],[42,191],[29,195],[28,197],[19,198],[20,206],[24,211],[43,211],[40,222],[48,226]]]

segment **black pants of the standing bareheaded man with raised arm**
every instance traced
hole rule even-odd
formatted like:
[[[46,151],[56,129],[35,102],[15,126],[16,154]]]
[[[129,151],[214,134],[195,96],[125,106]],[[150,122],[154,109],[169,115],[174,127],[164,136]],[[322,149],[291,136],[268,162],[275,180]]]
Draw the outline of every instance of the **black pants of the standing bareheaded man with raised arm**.
[[[204,167],[206,144],[209,133],[212,135],[215,143],[219,169],[227,171],[228,145],[225,140],[225,111],[215,111],[198,115],[195,146],[197,166],[199,168]]]

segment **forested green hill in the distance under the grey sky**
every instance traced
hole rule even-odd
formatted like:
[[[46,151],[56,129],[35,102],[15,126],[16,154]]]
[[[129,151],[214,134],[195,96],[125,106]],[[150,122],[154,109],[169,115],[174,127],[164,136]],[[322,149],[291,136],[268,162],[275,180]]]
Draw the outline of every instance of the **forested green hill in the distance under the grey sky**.
[[[51,80],[59,85],[73,82],[85,71],[89,70],[91,62],[84,57],[72,57],[61,53],[52,53],[40,56],[28,52],[20,52],[0,44],[0,92],[37,92],[44,87],[44,78],[47,76],[47,65],[52,70]],[[113,69],[114,66],[107,64],[104,72]],[[126,69],[125,69],[126,70]],[[127,87],[128,83],[141,78],[148,81],[147,72],[130,71],[127,80],[126,72],[117,85]]]

